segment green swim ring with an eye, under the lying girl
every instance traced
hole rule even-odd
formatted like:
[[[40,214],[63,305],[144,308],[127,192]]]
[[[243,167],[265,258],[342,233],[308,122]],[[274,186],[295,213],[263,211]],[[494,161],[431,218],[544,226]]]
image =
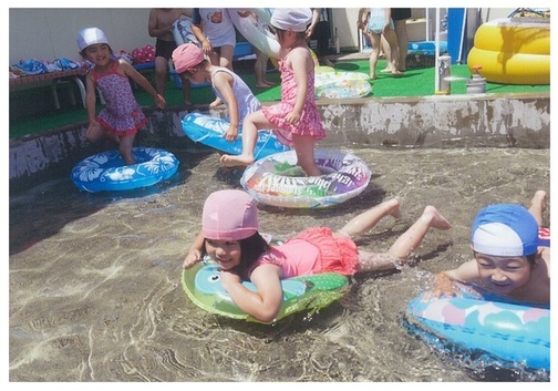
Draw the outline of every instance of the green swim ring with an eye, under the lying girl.
[[[260,320],[247,315],[235,305],[220,284],[219,265],[208,259],[183,270],[182,285],[186,296],[206,311],[261,323]],[[242,285],[256,291],[252,282],[244,281]],[[342,275],[324,272],[287,278],[281,280],[281,287],[283,301],[276,320],[303,310],[310,310],[310,313],[313,313],[329,306],[344,296],[349,280]]]

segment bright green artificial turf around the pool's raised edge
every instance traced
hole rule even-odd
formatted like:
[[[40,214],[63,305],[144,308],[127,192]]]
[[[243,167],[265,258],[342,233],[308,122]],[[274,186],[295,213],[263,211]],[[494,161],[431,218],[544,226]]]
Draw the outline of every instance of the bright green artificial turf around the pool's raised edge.
[[[269,89],[258,89],[255,86],[256,80],[252,69],[249,66],[254,62],[247,62],[236,71],[250,86],[255,95],[261,102],[279,101],[281,97],[280,74],[278,71],[268,72],[267,79],[277,84]],[[385,60],[378,61],[378,70],[385,68]],[[368,60],[339,61],[335,63],[335,70],[340,72],[363,72],[369,74],[370,66]],[[452,65],[452,76],[471,78],[471,72],[466,64]],[[433,95],[435,91],[434,66],[412,68],[401,76],[376,72],[378,79],[371,81],[372,94],[370,97],[393,97],[393,96],[427,96]],[[517,93],[517,92],[549,92],[550,85],[510,85],[510,84],[486,84],[487,93]],[[452,94],[466,94],[466,81],[453,81],[451,83]],[[153,106],[154,102],[149,94],[142,88],[136,88],[135,95],[142,106]],[[11,100],[10,94],[10,100]],[[167,105],[180,106],[183,104],[182,90],[176,88],[173,81],[166,85]],[[209,86],[196,88],[192,90],[192,101],[194,104],[208,104],[215,99]],[[20,96],[21,100],[21,96]],[[45,114],[12,116],[10,115],[10,138],[22,137],[29,134],[46,132],[49,130],[68,126],[71,124],[86,122],[87,114],[81,105],[81,99],[76,96],[78,105],[75,107],[63,107],[60,111],[52,110]],[[10,103],[11,104],[11,103]],[[101,110],[97,103],[97,110]]]

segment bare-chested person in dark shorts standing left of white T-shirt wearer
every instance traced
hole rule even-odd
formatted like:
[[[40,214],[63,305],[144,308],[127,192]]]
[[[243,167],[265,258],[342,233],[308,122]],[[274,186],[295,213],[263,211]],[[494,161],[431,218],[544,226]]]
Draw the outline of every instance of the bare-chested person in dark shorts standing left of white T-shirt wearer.
[[[176,49],[173,34],[173,24],[182,16],[192,17],[189,8],[152,8],[149,12],[149,37],[156,38],[155,42],[155,90],[165,97],[165,84],[167,80],[168,60]],[[182,78],[184,104],[192,105],[190,82]]]

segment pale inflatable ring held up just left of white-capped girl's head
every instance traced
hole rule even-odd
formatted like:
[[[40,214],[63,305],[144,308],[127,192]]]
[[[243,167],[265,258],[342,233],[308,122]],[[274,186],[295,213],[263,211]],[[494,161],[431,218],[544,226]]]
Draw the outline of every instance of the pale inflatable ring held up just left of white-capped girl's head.
[[[244,10],[250,11],[252,14],[242,18],[238,12]],[[227,11],[238,32],[246,38],[248,42],[270,58],[280,58],[281,45],[275,38],[275,34],[268,29],[269,21],[271,20],[271,12],[268,9],[229,8]],[[254,17],[254,14],[256,14],[257,18]]]

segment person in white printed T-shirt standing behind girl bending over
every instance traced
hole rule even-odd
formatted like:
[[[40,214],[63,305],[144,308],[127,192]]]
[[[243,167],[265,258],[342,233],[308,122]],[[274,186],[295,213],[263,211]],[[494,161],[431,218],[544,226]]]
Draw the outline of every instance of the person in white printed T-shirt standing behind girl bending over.
[[[211,65],[232,71],[236,30],[226,8],[194,8],[192,32],[202,44],[202,50],[209,58]],[[220,99],[216,97],[209,107],[221,103]]]

